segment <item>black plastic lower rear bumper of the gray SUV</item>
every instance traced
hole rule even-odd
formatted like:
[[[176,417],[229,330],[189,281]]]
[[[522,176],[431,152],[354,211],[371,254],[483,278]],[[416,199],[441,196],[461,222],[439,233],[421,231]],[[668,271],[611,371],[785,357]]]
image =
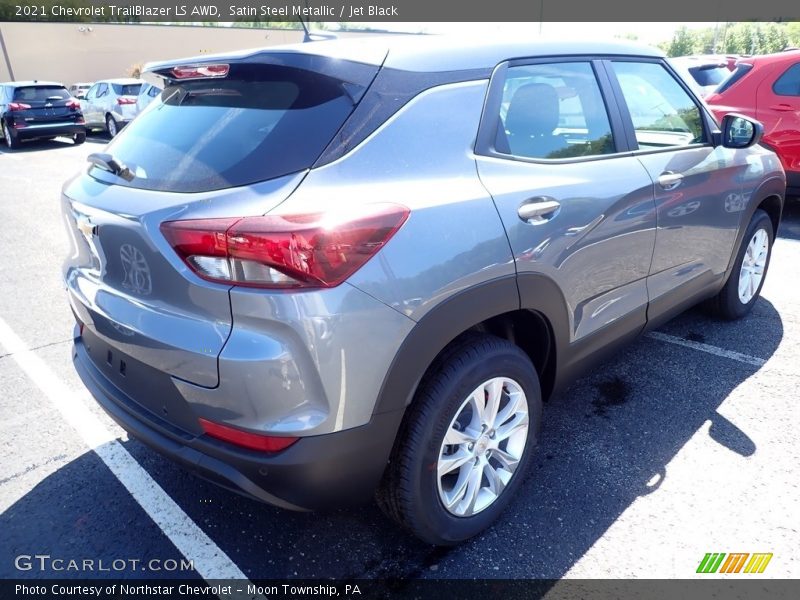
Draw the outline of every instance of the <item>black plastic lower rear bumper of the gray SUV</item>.
[[[368,502],[383,474],[403,412],[375,415],[361,427],[301,438],[280,453],[267,454],[169,425],[117,388],[94,365],[79,337],[73,361],[100,406],[130,435],[204,479],[292,510]]]

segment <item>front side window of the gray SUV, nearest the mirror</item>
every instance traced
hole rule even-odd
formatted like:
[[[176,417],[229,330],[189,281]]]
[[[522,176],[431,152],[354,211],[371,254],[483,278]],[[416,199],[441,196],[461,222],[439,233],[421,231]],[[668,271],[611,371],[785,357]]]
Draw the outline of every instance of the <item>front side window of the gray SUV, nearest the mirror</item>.
[[[611,63],[640,149],[703,143],[700,108],[663,65]]]

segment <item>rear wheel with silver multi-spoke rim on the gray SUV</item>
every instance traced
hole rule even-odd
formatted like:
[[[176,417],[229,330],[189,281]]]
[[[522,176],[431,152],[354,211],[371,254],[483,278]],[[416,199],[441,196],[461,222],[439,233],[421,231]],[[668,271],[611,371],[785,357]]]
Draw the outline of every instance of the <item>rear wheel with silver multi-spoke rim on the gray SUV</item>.
[[[420,385],[378,503],[432,544],[480,533],[520,485],[541,411],[539,380],[522,350],[488,335],[466,340]]]

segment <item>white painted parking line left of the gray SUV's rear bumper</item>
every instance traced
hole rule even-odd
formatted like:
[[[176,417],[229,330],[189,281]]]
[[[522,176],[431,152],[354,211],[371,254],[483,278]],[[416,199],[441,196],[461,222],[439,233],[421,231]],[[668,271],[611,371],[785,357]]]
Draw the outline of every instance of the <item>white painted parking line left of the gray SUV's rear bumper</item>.
[[[203,579],[247,579],[239,567],[136,462],[100,419],[92,414],[79,395],[29,350],[3,319],[0,319],[0,345],[6,348],[10,353],[9,358],[13,358],[47,396],[64,420],[94,450],[164,535],[187,560],[192,561]]]

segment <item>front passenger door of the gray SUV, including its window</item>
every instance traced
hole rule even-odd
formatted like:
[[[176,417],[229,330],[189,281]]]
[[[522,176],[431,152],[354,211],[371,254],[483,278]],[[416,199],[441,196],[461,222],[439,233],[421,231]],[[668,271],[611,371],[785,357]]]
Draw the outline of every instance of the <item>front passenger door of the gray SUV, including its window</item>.
[[[733,252],[748,152],[711,143],[713,123],[659,59],[605,63],[635,157],[652,179],[657,211],[648,278],[650,319],[719,284]]]

